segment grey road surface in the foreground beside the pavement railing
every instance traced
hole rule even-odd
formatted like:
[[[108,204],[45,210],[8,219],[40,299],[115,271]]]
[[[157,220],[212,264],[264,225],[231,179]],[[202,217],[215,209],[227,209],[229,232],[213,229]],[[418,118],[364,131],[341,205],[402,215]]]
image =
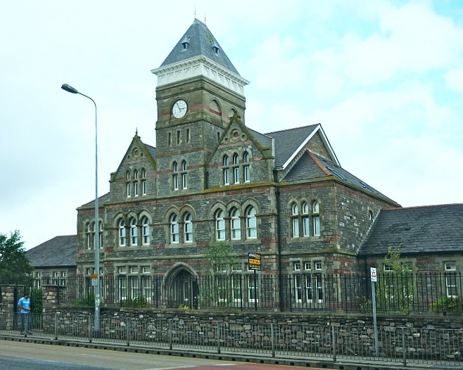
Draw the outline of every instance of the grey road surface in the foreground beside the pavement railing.
[[[17,341],[0,342],[2,370],[285,370],[298,366],[250,364],[243,362],[146,355],[134,352],[96,350],[83,347],[44,345]],[[315,368],[311,368],[314,369]]]

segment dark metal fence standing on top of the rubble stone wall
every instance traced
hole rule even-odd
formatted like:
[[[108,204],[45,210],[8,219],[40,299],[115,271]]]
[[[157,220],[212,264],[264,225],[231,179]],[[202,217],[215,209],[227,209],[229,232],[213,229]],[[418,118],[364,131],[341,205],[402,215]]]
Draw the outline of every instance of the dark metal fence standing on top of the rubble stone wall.
[[[461,314],[462,280],[457,273],[384,272],[376,283],[376,310]],[[52,284],[58,288],[59,303],[94,305],[90,277],[0,281],[0,290],[6,283],[34,288]],[[100,283],[101,303],[108,307],[371,312],[372,305],[369,276],[364,274],[224,274],[171,281],[163,276],[120,275],[101,276]]]

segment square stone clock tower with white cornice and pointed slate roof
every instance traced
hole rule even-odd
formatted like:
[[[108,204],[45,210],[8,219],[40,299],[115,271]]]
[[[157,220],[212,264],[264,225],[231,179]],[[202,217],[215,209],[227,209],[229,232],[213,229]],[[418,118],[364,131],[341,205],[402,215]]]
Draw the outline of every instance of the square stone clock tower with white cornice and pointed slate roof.
[[[156,165],[158,184],[163,184],[158,196],[203,191],[204,163],[229,119],[238,113],[244,121],[248,81],[197,19],[160,67],[151,72],[158,77]],[[172,182],[176,171],[179,184]],[[186,184],[181,181],[183,174],[187,175]]]

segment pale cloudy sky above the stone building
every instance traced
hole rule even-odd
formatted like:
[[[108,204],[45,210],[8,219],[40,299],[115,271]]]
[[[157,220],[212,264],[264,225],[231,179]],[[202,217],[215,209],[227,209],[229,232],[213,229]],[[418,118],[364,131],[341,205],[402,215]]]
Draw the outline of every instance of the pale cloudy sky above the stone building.
[[[246,125],[321,123],[349,172],[402,206],[463,202],[461,1],[1,1],[0,233],[75,234],[138,129],[157,68],[196,17],[250,84]]]

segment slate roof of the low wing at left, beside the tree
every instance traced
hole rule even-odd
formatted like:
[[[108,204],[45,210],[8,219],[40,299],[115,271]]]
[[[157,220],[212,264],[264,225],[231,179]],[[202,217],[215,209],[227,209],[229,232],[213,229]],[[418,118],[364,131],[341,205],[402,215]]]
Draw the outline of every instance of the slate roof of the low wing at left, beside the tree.
[[[33,267],[75,267],[77,235],[55,236],[37,247],[26,250]]]

